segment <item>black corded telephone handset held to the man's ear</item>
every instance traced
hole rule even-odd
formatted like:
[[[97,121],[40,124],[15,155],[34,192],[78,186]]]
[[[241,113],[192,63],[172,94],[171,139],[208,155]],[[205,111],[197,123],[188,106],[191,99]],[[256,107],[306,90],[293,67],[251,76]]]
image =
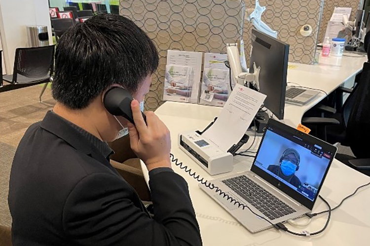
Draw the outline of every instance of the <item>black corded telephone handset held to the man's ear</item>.
[[[109,113],[115,116],[122,116],[129,122],[135,124],[134,118],[132,116],[131,101],[134,98],[130,92],[126,91],[121,87],[112,87],[109,89],[103,98],[104,107]],[[147,118],[142,112],[145,123],[147,123]]]

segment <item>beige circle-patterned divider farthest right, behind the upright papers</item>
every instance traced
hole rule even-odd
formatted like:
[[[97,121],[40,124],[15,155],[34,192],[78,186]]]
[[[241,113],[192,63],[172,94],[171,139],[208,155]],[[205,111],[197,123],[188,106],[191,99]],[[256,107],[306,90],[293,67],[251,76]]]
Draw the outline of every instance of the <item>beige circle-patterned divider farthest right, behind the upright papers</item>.
[[[362,0],[325,0],[318,42],[320,43],[324,41],[326,27],[328,26],[328,22],[332,17],[334,7],[351,7],[352,13],[350,21],[353,21],[356,17],[357,9],[359,9],[359,7],[362,5],[361,3]]]

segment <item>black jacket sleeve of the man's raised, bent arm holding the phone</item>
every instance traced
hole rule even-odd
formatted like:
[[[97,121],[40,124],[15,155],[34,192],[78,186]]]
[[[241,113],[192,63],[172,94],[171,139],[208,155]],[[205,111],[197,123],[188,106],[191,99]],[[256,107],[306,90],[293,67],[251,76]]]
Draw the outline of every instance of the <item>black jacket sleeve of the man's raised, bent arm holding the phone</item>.
[[[66,235],[80,245],[202,245],[185,180],[161,172],[150,177],[150,188],[154,219],[132,203],[134,191],[118,176],[88,175],[66,200]]]

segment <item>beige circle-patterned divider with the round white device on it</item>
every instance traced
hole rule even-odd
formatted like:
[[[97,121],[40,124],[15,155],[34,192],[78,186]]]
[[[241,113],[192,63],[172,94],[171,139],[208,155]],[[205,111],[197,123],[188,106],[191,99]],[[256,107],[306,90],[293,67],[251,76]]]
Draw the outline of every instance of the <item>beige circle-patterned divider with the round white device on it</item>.
[[[321,10],[324,0],[259,0],[259,5],[266,6],[262,21],[278,32],[277,38],[290,45],[289,62],[312,64],[317,44]],[[245,1],[245,7],[254,8],[256,1]],[[300,34],[303,25],[310,25],[312,34],[304,37]],[[245,54],[251,50],[252,25],[245,18],[243,38]]]

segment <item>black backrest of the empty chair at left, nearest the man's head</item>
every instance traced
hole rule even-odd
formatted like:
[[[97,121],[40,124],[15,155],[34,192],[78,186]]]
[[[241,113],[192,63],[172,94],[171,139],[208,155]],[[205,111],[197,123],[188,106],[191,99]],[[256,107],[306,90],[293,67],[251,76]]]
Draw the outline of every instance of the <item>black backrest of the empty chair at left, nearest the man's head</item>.
[[[15,50],[13,83],[17,82],[17,75],[28,78],[39,78],[52,75],[54,70],[55,45],[17,48]]]

